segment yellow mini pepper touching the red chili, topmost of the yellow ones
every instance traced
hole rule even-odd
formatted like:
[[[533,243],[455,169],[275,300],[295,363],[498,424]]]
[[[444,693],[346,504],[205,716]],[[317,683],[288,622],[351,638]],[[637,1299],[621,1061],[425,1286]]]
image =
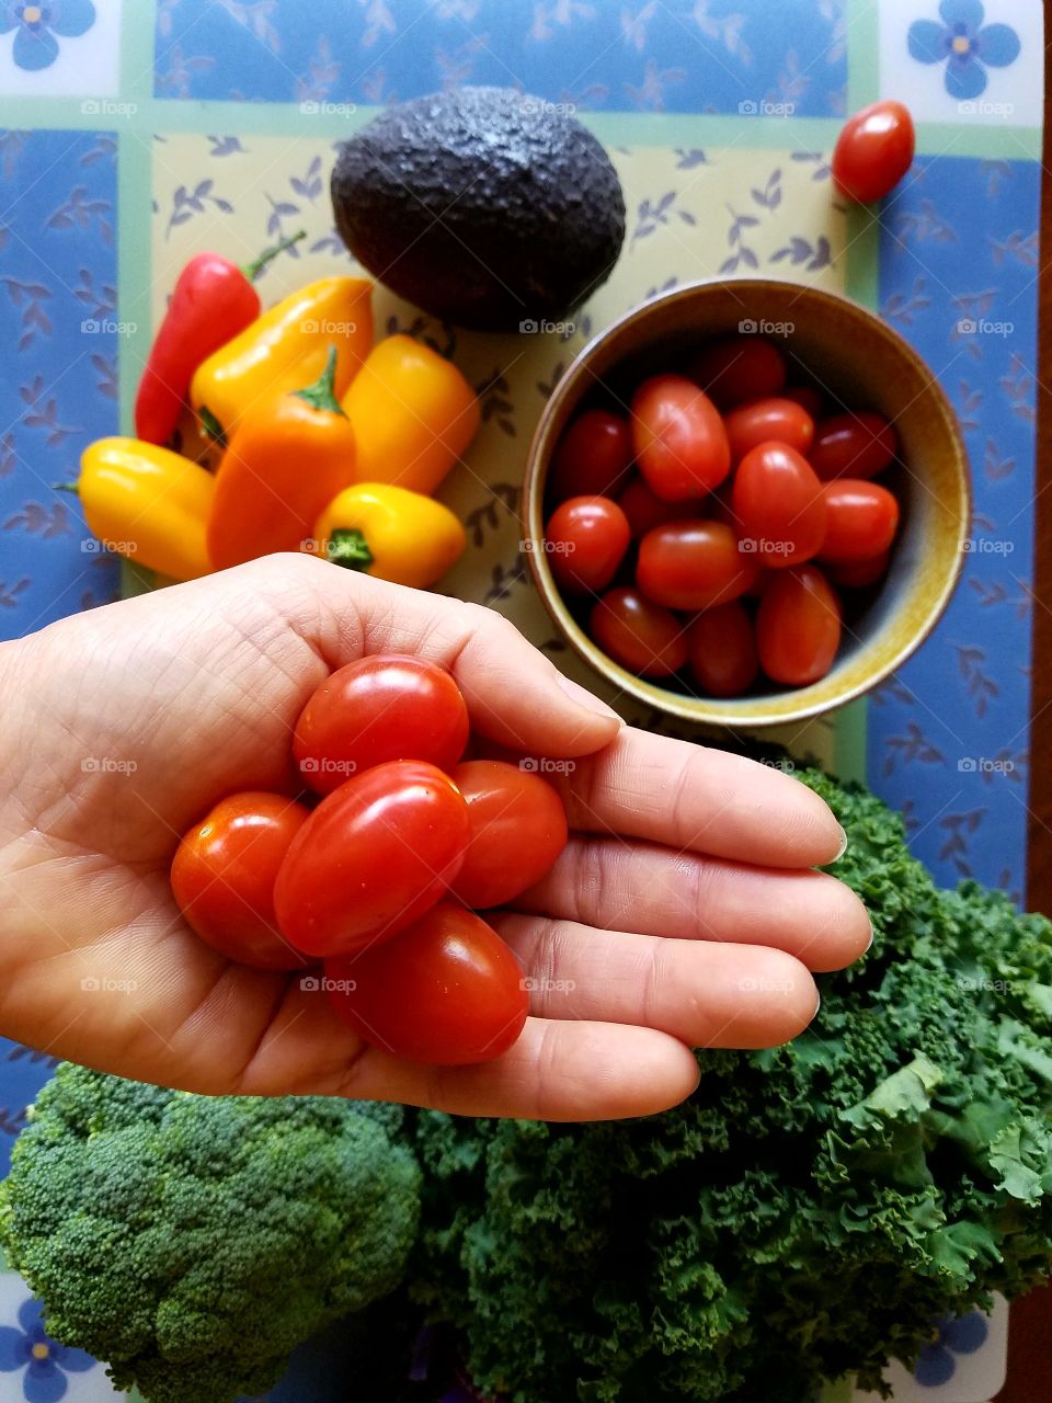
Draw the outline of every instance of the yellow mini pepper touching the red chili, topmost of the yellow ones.
[[[233,341],[203,361],[189,400],[213,436],[227,438],[262,401],[299,390],[321,376],[337,348],[335,393],[341,397],[373,344],[367,278],[321,278],[275,303]]]

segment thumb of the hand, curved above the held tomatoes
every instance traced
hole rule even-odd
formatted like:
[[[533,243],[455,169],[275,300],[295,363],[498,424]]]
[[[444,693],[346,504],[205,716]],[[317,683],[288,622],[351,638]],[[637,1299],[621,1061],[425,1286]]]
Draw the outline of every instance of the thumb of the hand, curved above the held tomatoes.
[[[586,755],[621,724],[492,609],[332,570],[310,556],[272,556],[240,568],[259,571],[262,586],[278,592],[289,622],[330,666],[363,654],[411,652],[449,668],[474,730],[516,751]]]

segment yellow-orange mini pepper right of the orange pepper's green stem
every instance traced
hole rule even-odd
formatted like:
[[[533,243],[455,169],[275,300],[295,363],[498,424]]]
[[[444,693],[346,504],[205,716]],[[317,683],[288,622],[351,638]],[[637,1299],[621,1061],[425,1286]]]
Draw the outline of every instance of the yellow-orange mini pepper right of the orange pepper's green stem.
[[[478,428],[460,370],[412,337],[386,337],[341,400],[358,443],[359,483],[433,492]]]

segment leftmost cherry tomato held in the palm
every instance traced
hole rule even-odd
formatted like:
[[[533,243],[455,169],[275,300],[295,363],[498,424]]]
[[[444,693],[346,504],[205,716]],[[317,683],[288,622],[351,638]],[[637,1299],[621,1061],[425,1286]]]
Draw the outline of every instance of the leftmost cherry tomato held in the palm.
[[[171,890],[187,925],[220,954],[258,969],[306,964],[278,930],[274,884],[310,810],[282,794],[220,800],[180,843]]]

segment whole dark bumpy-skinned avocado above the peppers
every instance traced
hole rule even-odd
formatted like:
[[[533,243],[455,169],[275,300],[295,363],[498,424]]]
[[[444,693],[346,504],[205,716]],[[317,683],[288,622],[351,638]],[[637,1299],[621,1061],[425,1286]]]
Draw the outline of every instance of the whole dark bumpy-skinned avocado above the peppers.
[[[515,88],[464,87],[384,111],[339,150],[337,229],[398,296],[445,321],[560,321],[624,240],[610,157],[575,118]]]

